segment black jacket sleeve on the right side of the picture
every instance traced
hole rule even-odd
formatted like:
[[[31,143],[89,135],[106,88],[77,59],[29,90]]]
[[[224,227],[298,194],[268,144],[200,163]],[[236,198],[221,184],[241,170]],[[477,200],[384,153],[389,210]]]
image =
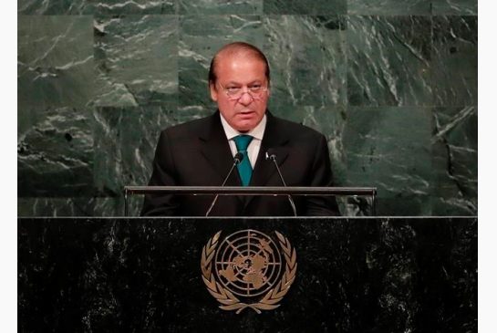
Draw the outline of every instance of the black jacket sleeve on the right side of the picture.
[[[331,161],[329,150],[324,135],[320,135],[316,144],[315,159],[310,175],[310,186],[333,186],[333,175],[331,172]],[[306,216],[337,216],[340,215],[335,196],[308,196],[305,202]]]

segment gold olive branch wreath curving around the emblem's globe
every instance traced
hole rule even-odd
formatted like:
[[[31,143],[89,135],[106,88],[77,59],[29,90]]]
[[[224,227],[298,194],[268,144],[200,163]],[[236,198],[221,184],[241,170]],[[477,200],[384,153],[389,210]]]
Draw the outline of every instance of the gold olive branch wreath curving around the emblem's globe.
[[[244,308],[249,307],[258,314],[261,314],[261,310],[273,310],[274,308],[280,306],[277,303],[285,297],[286,293],[290,289],[290,286],[292,286],[292,283],[295,280],[297,265],[295,248],[292,248],[292,245],[290,245],[290,242],[283,234],[280,234],[277,231],[274,233],[278,237],[279,244],[281,245],[285,255],[285,274],[276,286],[270,289],[257,303],[241,302],[231,291],[223,288],[223,286],[215,280],[214,275],[212,274],[211,263],[215,254],[216,246],[218,245],[221,231],[214,234],[214,236],[209,239],[207,244],[203,246],[201,260],[202,280],[203,283],[205,283],[205,286],[207,286],[207,290],[211,293],[212,297],[222,304],[219,306],[221,309],[236,310],[236,314],[239,314]]]

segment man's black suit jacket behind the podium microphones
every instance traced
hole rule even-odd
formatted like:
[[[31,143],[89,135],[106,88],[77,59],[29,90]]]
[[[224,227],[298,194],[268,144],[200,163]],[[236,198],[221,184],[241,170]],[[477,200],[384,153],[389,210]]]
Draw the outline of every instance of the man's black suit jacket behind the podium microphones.
[[[332,186],[325,137],[303,125],[266,112],[267,123],[255,162],[251,186],[282,186],[274,163],[264,158],[274,149],[287,186]],[[233,155],[219,111],[162,130],[155,151],[150,186],[220,186],[233,165]],[[241,186],[237,169],[226,186]],[[337,215],[333,197],[293,196],[298,215]],[[142,215],[204,216],[213,196],[146,195]],[[293,215],[285,196],[220,195],[211,216]]]

